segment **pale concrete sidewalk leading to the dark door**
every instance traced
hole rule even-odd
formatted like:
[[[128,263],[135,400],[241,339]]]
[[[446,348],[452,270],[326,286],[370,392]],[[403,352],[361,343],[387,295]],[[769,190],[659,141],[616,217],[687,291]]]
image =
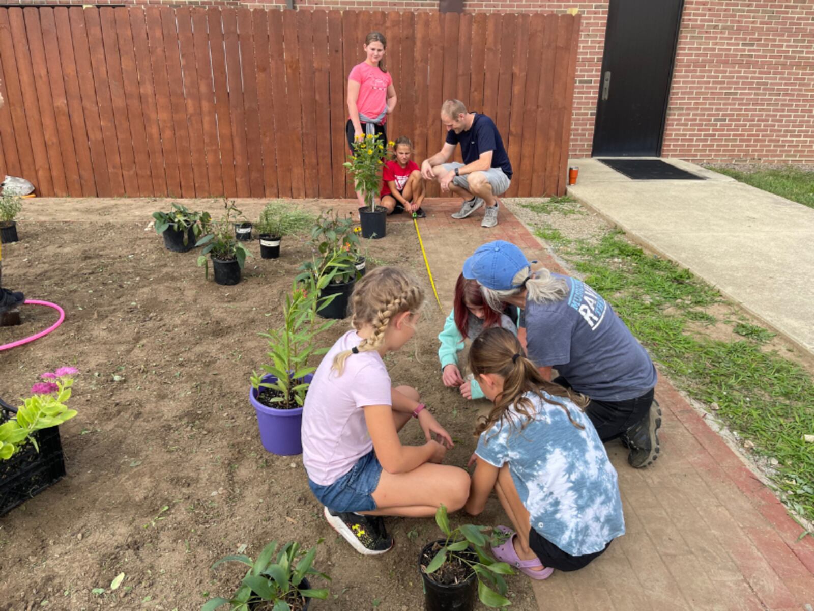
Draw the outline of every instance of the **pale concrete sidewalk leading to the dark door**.
[[[680,160],[706,180],[632,180],[571,160],[568,193],[628,237],[689,268],[814,354],[814,209]]]

